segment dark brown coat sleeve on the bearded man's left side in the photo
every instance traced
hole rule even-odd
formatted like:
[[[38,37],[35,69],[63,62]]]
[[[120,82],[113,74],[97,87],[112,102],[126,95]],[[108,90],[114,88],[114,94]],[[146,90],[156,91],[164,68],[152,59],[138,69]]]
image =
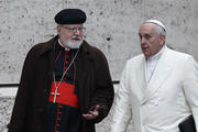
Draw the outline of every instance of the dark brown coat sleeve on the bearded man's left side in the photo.
[[[34,56],[35,57],[35,56]],[[25,116],[30,98],[31,78],[33,77],[33,59],[32,50],[24,61],[20,85],[15,97],[8,132],[24,132]]]

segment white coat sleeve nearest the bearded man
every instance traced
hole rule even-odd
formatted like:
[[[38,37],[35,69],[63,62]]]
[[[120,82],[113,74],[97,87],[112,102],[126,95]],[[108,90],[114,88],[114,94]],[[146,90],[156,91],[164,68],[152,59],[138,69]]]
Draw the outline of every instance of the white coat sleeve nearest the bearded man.
[[[129,72],[125,66],[121,76],[119,89],[116,92],[111,132],[125,132],[132,117],[128,74]]]

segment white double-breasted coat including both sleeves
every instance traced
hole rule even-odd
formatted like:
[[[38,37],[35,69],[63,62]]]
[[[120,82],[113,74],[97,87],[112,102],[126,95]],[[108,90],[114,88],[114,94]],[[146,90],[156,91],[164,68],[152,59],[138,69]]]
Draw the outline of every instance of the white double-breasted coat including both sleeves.
[[[165,48],[150,80],[143,54],[128,61],[114,100],[111,132],[179,132],[193,113],[198,129],[198,64],[187,54]],[[146,88],[147,87],[147,88]]]

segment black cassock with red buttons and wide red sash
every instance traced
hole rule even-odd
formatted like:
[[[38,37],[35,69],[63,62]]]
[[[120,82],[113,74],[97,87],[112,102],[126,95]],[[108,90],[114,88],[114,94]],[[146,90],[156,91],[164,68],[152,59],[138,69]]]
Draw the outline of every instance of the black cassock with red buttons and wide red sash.
[[[58,42],[55,43],[54,81],[47,106],[47,132],[81,132],[82,117],[78,108],[76,87],[78,56],[70,65],[76,53],[77,50],[65,51]],[[63,77],[65,70],[67,73]],[[55,87],[58,87],[57,92]]]

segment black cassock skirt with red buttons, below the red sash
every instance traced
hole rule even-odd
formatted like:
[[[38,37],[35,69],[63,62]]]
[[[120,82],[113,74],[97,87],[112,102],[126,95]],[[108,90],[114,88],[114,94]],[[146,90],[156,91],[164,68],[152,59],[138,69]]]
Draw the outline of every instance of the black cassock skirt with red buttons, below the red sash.
[[[61,114],[57,114],[58,112]],[[47,132],[81,132],[81,114],[79,109],[48,102],[47,114]]]

